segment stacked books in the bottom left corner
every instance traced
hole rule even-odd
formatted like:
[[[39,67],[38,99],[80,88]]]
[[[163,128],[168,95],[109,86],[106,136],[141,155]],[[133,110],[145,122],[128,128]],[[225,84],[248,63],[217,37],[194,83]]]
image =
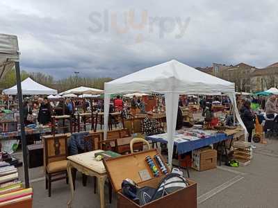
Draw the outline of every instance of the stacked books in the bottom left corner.
[[[0,162],[0,207],[31,207],[33,189],[24,189],[18,179],[17,168]]]

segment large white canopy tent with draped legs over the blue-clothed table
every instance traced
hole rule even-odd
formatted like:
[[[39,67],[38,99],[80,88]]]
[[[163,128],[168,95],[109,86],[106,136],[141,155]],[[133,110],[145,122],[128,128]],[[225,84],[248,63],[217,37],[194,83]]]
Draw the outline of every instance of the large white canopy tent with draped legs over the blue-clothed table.
[[[171,60],[104,84],[104,139],[106,139],[108,130],[110,95],[131,92],[165,94],[169,164],[172,164],[174,146],[172,137],[177,123],[179,94],[227,93],[234,105],[236,117],[245,129],[245,137],[247,136],[247,130],[236,108],[234,83],[198,71],[177,60]]]

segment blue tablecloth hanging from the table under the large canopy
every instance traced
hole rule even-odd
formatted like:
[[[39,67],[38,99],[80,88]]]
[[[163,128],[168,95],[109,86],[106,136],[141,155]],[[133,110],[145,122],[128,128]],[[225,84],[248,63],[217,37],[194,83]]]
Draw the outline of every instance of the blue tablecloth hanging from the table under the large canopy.
[[[146,139],[167,144],[167,140],[162,139],[162,138],[149,136],[149,137],[146,137]],[[227,137],[227,135],[224,133],[218,133],[213,136],[206,137],[204,139],[197,139],[197,140],[193,140],[193,141],[182,141],[182,142],[174,141],[174,146],[177,146],[178,153],[182,154],[182,153],[187,153],[192,150],[196,150],[196,149],[202,148],[204,146],[215,144],[220,141],[227,140],[227,139],[232,139],[232,138]]]

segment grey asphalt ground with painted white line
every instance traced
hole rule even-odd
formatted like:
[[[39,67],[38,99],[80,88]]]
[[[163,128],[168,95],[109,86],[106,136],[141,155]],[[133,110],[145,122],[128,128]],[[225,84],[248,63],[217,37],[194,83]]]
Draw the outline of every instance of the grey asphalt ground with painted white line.
[[[256,146],[249,166],[220,166],[201,173],[190,171],[190,177],[198,184],[199,208],[278,207],[278,139],[268,140],[267,145]],[[17,156],[20,156],[19,154],[17,153]],[[23,177],[22,171],[23,168],[19,168],[19,174]],[[54,183],[52,197],[48,198],[42,168],[30,169],[30,177],[34,189],[34,208],[66,207],[70,187],[64,181]],[[107,199],[106,193],[106,207],[116,207],[115,194],[112,205],[108,204]],[[92,180],[89,180],[87,187],[83,187],[81,175],[78,175],[73,207],[99,207],[98,201],[98,195],[92,191]]]

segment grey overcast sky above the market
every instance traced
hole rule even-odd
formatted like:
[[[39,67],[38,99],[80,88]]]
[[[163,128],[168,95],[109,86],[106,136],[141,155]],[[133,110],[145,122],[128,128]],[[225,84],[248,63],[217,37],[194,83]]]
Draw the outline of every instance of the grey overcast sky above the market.
[[[1,0],[0,33],[19,37],[22,69],[55,78],[117,78],[172,59],[265,67],[278,62],[277,11],[275,0]]]

